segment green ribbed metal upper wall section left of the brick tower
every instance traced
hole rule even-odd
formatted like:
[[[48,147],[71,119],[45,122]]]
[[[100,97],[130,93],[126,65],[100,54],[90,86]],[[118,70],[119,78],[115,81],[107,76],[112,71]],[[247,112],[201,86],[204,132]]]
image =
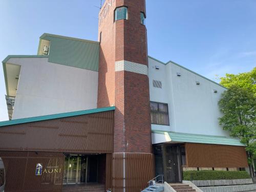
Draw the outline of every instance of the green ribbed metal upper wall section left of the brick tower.
[[[49,62],[98,71],[99,42],[44,33],[41,40],[49,40]],[[39,50],[38,50],[39,53]]]

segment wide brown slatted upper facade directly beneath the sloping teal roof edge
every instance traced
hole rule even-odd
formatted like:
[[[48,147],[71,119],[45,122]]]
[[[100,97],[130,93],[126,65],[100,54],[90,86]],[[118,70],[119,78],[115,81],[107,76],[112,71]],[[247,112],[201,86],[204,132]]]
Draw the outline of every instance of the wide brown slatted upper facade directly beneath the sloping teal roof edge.
[[[114,111],[0,127],[0,151],[113,153]]]

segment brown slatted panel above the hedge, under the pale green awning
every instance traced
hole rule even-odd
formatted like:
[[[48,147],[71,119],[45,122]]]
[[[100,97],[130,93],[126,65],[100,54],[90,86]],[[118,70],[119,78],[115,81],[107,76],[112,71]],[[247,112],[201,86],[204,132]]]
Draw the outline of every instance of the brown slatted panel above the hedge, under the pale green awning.
[[[244,146],[186,143],[187,167],[248,167]]]

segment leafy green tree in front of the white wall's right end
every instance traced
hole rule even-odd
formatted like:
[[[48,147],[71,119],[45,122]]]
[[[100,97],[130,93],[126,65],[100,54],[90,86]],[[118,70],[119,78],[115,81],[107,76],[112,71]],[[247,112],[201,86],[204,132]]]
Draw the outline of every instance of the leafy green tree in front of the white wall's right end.
[[[231,82],[230,82],[231,83]],[[219,118],[224,130],[246,144],[249,163],[256,157],[256,96],[251,89],[232,84],[219,101],[223,116]]]

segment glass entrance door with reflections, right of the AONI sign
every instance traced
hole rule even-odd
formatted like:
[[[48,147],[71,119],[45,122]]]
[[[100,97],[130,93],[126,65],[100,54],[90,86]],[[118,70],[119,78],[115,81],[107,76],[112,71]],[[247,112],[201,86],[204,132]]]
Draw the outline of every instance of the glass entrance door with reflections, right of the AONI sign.
[[[87,158],[81,155],[65,157],[63,184],[86,182]]]

